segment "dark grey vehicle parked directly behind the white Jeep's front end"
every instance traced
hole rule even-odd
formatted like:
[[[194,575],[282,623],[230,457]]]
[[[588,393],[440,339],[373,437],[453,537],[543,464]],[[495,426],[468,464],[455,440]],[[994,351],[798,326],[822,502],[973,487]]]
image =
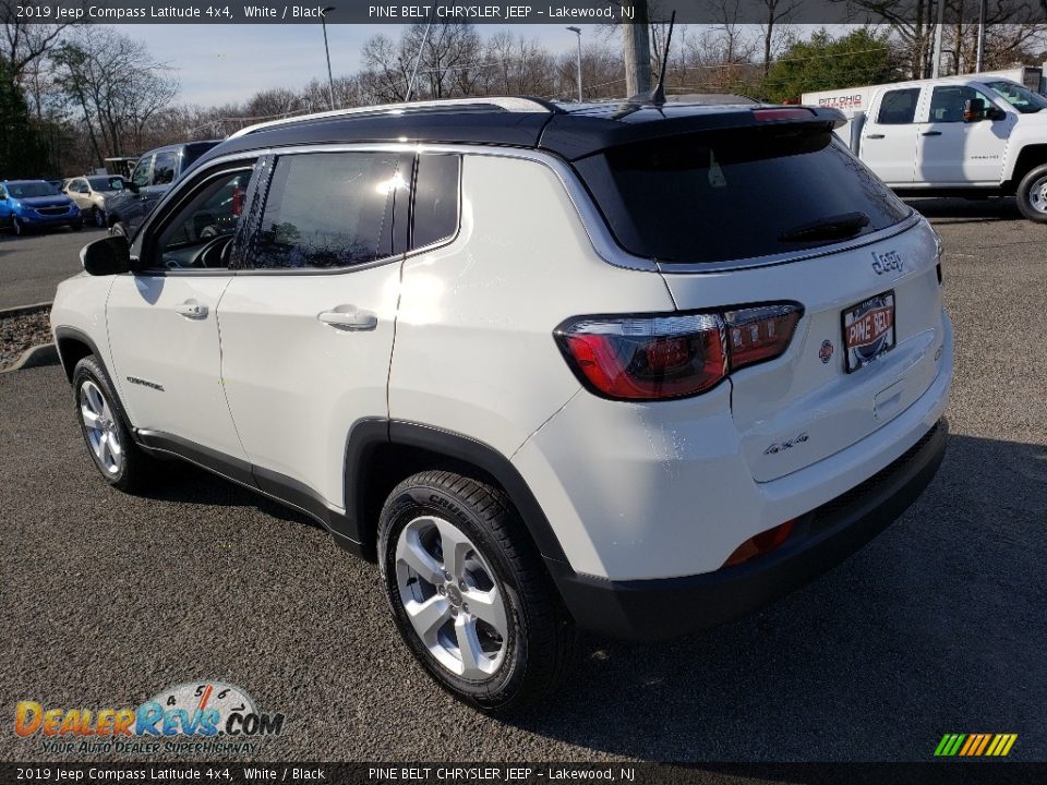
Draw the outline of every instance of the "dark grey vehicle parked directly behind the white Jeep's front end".
[[[132,235],[160,197],[183,171],[218,141],[189,142],[158,147],[143,155],[127,188],[106,203],[106,220],[111,234]]]

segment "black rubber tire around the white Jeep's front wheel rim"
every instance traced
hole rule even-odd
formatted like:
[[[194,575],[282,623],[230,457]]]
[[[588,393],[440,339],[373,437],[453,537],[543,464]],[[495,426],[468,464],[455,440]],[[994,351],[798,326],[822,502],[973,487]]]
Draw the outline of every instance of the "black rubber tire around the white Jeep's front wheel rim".
[[[107,464],[96,454],[95,445],[92,442],[92,430],[88,427],[83,412],[86,395],[84,388],[87,385],[94,385],[108,406],[111,427],[106,430],[115,434],[122,455],[120,466],[116,470],[112,464]],[[93,354],[76,363],[76,367],[73,370],[73,401],[76,420],[80,422],[80,430],[84,435],[84,443],[87,445],[87,454],[94,461],[95,468],[106,479],[106,482],[124,493],[136,493],[146,487],[154,473],[155,461],[143,452],[134,443],[134,439],[131,438],[131,428],[123,406],[120,403],[108,375],[101,367],[101,363]]]

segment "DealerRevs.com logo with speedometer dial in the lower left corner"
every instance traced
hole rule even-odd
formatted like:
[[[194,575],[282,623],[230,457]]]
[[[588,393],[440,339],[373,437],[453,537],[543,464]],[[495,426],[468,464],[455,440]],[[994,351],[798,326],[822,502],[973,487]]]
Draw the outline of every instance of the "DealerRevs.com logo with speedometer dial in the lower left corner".
[[[261,740],[278,736],[284,714],[258,711],[236,685],[188,681],[161,690],[137,708],[49,708],[21,701],[14,732],[39,737],[45,752],[156,752],[253,754]]]

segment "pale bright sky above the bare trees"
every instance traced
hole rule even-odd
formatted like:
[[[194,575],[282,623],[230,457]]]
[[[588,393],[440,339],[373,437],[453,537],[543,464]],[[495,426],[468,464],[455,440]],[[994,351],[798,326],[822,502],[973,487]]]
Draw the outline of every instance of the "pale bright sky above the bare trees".
[[[378,33],[393,39],[398,25],[328,25],[334,75],[361,67],[363,43]],[[477,25],[483,38],[498,25]],[[574,51],[575,34],[559,25],[512,25],[517,35],[540,39],[551,51]],[[582,27],[582,41],[605,36],[600,25]],[[124,25],[121,33],[148,46],[153,56],[174,69],[184,104],[214,106],[242,101],[261,89],[303,87],[327,77],[324,36],[317,25]]]

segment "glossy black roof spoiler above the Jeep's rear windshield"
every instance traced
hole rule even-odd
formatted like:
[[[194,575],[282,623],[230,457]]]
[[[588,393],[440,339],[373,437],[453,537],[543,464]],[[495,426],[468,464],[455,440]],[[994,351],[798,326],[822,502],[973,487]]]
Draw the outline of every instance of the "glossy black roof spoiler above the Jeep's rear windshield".
[[[674,111],[677,107],[683,111]],[[843,112],[831,107],[759,105],[703,112],[686,105],[625,104],[614,113],[554,114],[545,124],[538,146],[568,160],[578,160],[609,147],[683,134],[780,125],[832,131],[846,121]]]

